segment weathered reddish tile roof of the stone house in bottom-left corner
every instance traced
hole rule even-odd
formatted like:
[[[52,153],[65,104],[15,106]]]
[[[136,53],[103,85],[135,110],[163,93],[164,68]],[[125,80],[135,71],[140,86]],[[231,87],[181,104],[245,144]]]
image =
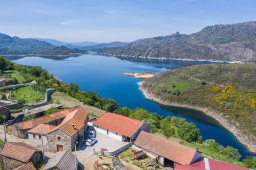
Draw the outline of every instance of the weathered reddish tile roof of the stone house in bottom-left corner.
[[[27,163],[36,151],[40,151],[22,142],[6,142],[0,155]]]

